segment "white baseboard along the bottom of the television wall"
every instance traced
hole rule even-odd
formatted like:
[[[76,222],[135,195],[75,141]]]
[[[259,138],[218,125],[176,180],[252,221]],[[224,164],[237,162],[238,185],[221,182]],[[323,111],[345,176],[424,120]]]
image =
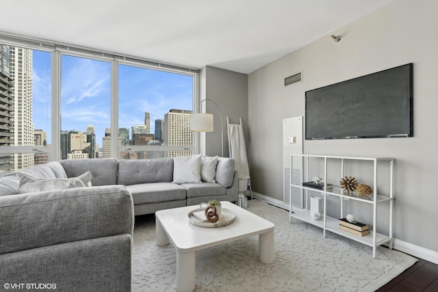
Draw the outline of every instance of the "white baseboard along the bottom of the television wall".
[[[253,197],[289,211],[289,204],[283,202],[282,200],[274,199],[272,197],[256,193],[255,191],[253,191]],[[438,265],[438,252],[435,252],[434,250],[422,248],[421,246],[414,245],[396,238],[394,239],[393,248],[394,250],[400,250],[400,252],[410,254],[411,256],[415,256],[417,258],[422,258],[425,261],[429,261]]]

